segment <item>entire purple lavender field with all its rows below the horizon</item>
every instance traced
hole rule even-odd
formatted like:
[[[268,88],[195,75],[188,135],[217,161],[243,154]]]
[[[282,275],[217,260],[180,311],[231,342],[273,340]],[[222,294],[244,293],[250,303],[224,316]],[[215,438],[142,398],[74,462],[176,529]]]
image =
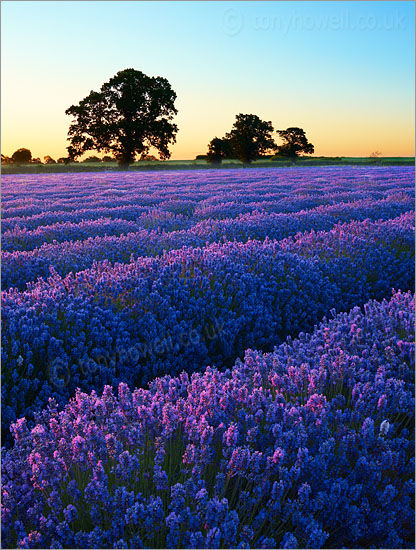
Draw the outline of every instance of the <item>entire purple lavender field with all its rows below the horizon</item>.
[[[2,183],[2,547],[414,547],[413,167]]]

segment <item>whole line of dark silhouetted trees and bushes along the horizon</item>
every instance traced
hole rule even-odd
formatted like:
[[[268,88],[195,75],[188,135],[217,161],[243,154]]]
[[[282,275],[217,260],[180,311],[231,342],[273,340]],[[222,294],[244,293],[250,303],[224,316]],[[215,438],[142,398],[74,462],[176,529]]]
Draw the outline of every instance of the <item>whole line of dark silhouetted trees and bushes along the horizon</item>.
[[[161,160],[169,159],[169,146],[175,143],[178,132],[173,122],[178,112],[175,100],[176,93],[166,78],[149,77],[135,69],[119,71],[98,92],[91,91],[65,111],[73,117],[67,157],[56,161],[48,155],[42,163],[39,158],[32,158],[29,149],[21,148],[11,158],[2,155],[2,163],[68,164],[88,151],[104,156],[89,156],[83,162],[117,161],[123,167],[136,159],[156,160],[150,150],[157,152]],[[296,159],[300,154],[314,152],[302,128],[277,130],[281,145],[274,141],[274,131],[270,121],[240,113],[224,137],[210,141],[204,158],[212,164],[228,158],[249,164],[267,155]]]

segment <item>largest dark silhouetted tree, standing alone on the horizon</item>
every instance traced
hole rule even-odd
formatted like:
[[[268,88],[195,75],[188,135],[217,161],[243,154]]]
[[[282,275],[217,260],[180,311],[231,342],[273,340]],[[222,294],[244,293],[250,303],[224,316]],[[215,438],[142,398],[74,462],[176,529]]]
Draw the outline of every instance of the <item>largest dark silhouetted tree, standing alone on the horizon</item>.
[[[92,91],[78,105],[65,111],[75,121],[69,127],[68,154],[76,158],[86,151],[111,153],[123,166],[137,154],[154,147],[162,160],[170,157],[178,127],[176,93],[166,78],[149,77],[134,69],[118,72]]]

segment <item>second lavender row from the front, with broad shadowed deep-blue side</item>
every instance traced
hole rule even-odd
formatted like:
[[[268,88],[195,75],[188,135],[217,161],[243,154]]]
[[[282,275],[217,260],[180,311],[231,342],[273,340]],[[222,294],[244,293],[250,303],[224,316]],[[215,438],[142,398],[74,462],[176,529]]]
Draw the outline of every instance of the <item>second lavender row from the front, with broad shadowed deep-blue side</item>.
[[[51,395],[63,403],[78,386],[230,365],[249,347],[267,351],[310,330],[332,308],[413,285],[414,220],[403,215],[102,262],[11,289],[2,294],[3,428]]]

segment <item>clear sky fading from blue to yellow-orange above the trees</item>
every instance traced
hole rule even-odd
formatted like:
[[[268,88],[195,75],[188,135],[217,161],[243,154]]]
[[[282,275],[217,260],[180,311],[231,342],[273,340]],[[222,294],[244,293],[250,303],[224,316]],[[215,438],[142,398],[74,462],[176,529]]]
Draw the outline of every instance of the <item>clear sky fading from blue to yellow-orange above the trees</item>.
[[[413,156],[414,19],[411,1],[6,0],[1,150],[66,156],[65,109],[134,68],[177,94],[172,159],[238,113],[304,128],[315,155]]]

